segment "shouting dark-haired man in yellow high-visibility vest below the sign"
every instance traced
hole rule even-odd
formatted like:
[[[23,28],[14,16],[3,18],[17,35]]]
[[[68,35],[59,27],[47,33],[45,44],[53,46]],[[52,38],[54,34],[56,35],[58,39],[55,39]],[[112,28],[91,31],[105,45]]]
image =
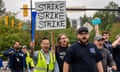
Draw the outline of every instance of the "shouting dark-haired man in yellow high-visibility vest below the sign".
[[[34,52],[34,72],[59,72],[55,54],[50,51],[50,40],[46,37],[40,41],[41,50]]]

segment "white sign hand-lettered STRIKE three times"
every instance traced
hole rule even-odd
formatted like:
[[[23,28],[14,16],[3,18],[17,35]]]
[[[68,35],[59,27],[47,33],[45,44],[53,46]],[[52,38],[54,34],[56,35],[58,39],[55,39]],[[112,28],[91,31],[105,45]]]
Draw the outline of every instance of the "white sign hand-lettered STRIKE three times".
[[[66,2],[45,1],[36,2],[36,30],[51,30],[66,28]]]

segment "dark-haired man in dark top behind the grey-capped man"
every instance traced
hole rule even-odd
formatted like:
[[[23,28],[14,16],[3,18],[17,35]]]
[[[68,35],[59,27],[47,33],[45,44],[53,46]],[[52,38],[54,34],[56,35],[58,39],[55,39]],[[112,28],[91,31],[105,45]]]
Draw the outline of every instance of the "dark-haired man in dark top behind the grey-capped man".
[[[109,33],[107,31],[104,31],[102,33],[102,37],[104,38],[104,48],[108,49],[113,55],[112,42],[109,40]]]

